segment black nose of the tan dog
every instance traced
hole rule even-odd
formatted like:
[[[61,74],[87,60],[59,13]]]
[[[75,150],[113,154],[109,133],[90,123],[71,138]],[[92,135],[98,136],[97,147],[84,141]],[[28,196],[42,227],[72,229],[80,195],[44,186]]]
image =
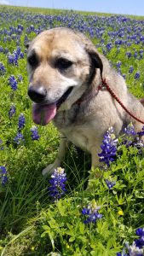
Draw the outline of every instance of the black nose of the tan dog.
[[[28,89],[27,94],[33,102],[41,103],[44,101],[47,91],[43,87],[31,86]]]

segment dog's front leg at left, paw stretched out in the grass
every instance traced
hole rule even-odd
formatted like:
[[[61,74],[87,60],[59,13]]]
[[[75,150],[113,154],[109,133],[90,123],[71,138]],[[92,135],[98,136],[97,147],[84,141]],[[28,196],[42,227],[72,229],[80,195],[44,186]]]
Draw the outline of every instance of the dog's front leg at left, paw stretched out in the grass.
[[[43,169],[43,171],[42,171],[43,176],[46,174],[53,173],[54,170],[60,166],[60,163],[65,156],[67,146],[68,146],[68,141],[66,140],[66,138],[61,138],[60,139],[60,147],[59,147],[59,151],[58,151],[57,157],[55,159],[55,162],[53,164],[50,164],[49,166],[47,166],[45,169]]]

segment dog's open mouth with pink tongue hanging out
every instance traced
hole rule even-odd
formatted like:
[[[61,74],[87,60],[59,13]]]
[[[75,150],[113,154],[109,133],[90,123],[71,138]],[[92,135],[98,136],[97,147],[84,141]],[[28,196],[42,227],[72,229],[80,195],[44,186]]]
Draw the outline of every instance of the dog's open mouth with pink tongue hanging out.
[[[57,102],[50,104],[37,104],[33,103],[32,118],[37,125],[47,125],[55,118],[58,108],[66,101],[67,97],[72,92],[73,86],[71,86],[66,92],[60,97]]]

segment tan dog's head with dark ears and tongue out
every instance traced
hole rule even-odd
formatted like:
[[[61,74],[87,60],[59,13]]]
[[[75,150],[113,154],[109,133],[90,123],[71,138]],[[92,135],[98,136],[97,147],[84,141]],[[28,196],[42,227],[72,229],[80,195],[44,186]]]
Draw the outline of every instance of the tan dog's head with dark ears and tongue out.
[[[82,96],[96,70],[102,73],[102,61],[88,38],[67,28],[41,32],[27,48],[33,119],[46,125],[60,105],[72,105]]]

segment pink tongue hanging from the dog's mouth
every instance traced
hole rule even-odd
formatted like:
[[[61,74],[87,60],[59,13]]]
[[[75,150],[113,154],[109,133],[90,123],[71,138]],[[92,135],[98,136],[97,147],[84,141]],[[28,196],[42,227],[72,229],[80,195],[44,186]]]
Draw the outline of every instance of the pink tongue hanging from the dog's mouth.
[[[37,125],[47,125],[56,114],[56,104],[49,105],[33,104],[32,118]]]

